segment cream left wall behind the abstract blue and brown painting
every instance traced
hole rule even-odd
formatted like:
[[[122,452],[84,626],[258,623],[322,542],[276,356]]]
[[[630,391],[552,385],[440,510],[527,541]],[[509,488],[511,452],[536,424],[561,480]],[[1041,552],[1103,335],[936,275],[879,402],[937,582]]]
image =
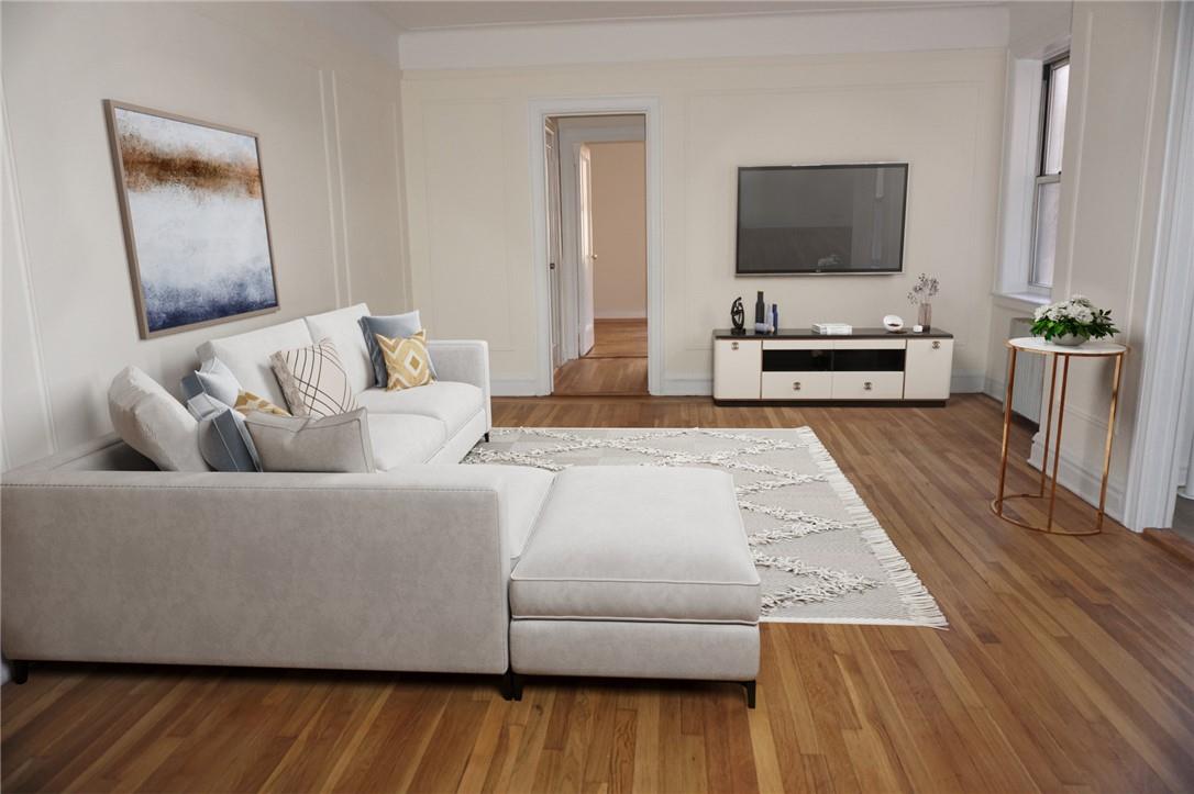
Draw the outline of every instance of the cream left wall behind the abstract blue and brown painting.
[[[210,336],[357,300],[408,305],[399,74],[313,13],[2,4],[4,467],[107,432],[107,384],[127,364],[177,391]],[[109,98],[260,136],[278,314],[139,339]]]

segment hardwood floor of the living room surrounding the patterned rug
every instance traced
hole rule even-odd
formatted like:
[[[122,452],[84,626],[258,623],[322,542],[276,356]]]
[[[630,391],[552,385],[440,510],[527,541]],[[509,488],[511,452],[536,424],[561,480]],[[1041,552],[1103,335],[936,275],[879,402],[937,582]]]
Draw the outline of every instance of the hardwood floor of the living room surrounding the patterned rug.
[[[1194,563],[995,519],[993,401],[498,399],[494,422],[808,424],[950,627],[764,625],[753,712],[714,683],[531,680],[507,703],[473,677],[36,665],[2,688],[4,789],[1194,790]]]

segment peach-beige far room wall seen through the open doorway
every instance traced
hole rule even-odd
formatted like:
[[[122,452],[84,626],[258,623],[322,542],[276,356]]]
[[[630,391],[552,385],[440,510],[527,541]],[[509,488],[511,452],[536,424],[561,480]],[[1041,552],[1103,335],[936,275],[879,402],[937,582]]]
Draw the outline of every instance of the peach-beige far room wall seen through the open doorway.
[[[593,316],[647,316],[646,144],[589,144],[592,161]]]

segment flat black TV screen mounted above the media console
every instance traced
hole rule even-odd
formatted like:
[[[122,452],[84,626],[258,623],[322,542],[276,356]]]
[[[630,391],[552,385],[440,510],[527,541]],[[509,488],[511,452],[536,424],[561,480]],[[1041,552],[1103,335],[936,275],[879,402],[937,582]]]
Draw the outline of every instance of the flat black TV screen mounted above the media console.
[[[740,274],[899,273],[907,163],[738,169]]]

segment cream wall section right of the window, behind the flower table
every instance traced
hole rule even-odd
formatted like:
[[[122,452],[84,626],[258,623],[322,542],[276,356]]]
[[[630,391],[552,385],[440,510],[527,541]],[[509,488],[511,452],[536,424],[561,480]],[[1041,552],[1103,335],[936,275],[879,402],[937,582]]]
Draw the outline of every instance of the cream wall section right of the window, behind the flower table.
[[[1177,4],[1081,2],[1073,8],[1065,176],[1053,293],[1112,310],[1131,352],[1120,396],[1108,511],[1119,517],[1139,399],[1156,256],[1177,33]],[[1112,366],[1071,366],[1060,482],[1098,497]],[[1176,430],[1176,428],[1175,428]],[[1033,459],[1040,459],[1040,439]]]

